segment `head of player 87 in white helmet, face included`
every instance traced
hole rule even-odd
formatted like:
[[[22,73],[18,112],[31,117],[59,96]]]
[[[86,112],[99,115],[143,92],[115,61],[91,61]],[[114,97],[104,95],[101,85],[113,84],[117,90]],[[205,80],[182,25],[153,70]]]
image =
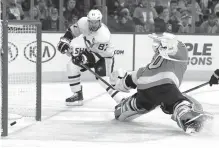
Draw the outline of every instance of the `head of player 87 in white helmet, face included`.
[[[100,10],[92,9],[88,12],[87,19],[90,31],[97,31],[101,27],[102,18]]]

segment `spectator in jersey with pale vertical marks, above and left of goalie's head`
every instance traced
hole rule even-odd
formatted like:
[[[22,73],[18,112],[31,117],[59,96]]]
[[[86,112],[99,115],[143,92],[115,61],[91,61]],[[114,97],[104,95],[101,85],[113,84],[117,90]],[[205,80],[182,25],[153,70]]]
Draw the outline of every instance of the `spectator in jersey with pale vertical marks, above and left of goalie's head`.
[[[133,21],[135,23],[136,32],[152,32],[154,25],[154,15],[148,8],[147,0],[140,0],[137,8],[135,8]]]

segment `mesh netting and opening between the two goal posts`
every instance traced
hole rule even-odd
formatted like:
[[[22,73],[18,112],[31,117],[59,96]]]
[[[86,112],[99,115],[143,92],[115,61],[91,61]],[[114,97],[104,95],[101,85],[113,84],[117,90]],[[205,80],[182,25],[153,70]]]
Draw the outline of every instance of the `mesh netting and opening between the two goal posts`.
[[[36,115],[36,25],[8,25],[8,112]]]

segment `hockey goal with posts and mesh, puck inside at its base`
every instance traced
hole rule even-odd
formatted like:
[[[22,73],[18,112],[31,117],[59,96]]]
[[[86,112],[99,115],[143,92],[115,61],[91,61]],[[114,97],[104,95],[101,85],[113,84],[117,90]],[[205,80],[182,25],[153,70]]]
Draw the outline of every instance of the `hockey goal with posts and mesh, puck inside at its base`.
[[[41,120],[40,23],[1,22],[0,46],[1,127],[2,136],[7,136],[11,125],[20,119]]]

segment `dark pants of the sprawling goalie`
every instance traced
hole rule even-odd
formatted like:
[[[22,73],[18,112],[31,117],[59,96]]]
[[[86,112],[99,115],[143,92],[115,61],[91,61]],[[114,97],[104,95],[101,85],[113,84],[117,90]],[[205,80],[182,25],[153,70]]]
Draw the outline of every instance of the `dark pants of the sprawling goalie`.
[[[151,111],[160,106],[164,113],[173,114],[174,107],[183,100],[187,100],[202,110],[202,106],[195,99],[183,95],[174,84],[163,84],[145,90],[137,90],[135,94],[138,109]]]

